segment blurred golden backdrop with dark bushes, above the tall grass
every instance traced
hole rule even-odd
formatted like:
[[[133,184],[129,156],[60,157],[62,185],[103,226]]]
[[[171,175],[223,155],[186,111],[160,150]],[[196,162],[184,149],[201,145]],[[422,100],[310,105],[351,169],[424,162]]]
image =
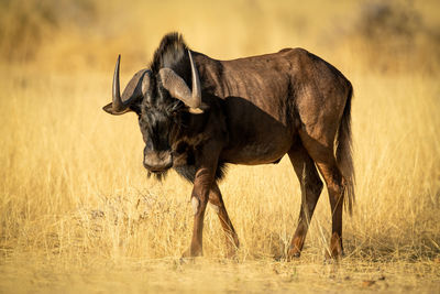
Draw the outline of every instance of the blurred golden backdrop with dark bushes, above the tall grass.
[[[1,0],[0,58],[111,73],[121,53],[133,70],[178,31],[215,58],[301,46],[350,70],[430,72],[439,66],[439,13],[436,0]]]

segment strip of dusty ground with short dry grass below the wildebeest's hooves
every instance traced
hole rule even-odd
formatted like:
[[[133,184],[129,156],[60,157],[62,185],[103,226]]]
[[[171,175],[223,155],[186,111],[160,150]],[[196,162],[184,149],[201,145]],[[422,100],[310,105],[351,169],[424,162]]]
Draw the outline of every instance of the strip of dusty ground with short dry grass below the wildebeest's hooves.
[[[100,264],[61,264],[38,260],[14,261],[1,266],[6,293],[346,293],[415,292],[440,288],[438,261],[364,262],[346,259],[326,264],[312,257],[301,261],[230,261],[179,259]]]

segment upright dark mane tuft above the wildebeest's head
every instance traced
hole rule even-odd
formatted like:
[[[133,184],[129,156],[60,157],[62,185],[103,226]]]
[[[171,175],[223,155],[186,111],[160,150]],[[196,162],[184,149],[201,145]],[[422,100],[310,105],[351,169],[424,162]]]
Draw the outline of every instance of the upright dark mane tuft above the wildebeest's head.
[[[183,66],[183,62],[187,58],[188,46],[185,44],[184,37],[177,32],[172,32],[166,34],[155,51],[153,61],[150,65],[151,70],[157,74],[163,67],[168,67],[173,69],[179,69]],[[184,68],[182,68],[184,69]]]

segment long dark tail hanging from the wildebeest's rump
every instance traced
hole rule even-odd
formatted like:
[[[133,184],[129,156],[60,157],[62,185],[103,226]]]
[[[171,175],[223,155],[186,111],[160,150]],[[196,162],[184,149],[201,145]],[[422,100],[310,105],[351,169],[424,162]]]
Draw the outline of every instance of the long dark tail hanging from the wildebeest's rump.
[[[342,115],[341,122],[339,124],[337,135],[337,163],[339,170],[344,177],[344,206],[352,214],[354,205],[354,166],[353,166],[353,153],[352,153],[352,134],[351,134],[351,100],[353,97],[353,87],[350,84],[349,95],[346,97],[345,108]]]

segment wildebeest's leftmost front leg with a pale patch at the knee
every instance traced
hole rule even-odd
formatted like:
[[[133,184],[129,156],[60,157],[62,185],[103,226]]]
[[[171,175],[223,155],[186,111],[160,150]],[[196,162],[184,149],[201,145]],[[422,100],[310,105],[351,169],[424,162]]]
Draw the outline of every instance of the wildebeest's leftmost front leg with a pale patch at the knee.
[[[205,154],[207,156],[205,156]],[[184,253],[184,257],[202,255],[204,217],[209,199],[209,190],[215,183],[218,154],[219,152],[217,152],[216,149],[206,148],[199,159],[196,160],[196,162],[198,162],[198,167],[191,193],[191,205],[194,210],[193,239],[191,244]]]

